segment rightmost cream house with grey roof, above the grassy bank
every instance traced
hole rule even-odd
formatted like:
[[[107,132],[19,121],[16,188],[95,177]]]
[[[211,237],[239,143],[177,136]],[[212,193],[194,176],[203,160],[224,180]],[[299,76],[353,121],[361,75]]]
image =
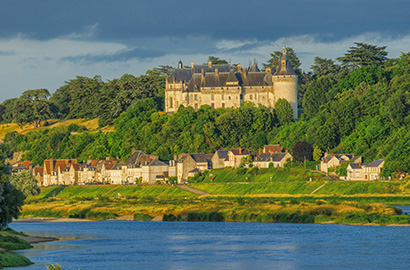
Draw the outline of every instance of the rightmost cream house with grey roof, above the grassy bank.
[[[350,181],[374,181],[381,177],[384,165],[383,159],[369,163],[350,163],[347,166],[346,179]]]

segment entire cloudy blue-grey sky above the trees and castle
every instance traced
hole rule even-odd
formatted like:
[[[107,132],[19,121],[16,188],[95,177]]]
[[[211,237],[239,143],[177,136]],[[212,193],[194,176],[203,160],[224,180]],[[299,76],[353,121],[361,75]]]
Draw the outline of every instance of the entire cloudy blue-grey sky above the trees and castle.
[[[261,66],[283,43],[309,71],[354,42],[410,51],[408,0],[0,0],[0,102],[76,76],[139,76],[216,56]]]

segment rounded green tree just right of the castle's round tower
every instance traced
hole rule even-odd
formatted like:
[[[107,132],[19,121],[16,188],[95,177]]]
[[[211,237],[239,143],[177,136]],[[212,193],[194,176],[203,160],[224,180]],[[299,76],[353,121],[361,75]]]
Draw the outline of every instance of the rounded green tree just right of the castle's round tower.
[[[326,94],[332,87],[332,80],[326,76],[322,76],[309,84],[303,98],[303,112],[308,118],[315,116],[319,112],[320,107],[328,101]]]

